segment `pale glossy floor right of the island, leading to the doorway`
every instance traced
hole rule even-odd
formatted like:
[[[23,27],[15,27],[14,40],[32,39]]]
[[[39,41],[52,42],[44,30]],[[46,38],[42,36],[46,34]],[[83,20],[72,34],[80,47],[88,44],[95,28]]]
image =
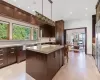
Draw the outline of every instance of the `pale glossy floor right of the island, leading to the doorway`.
[[[95,61],[85,53],[69,53],[69,62],[65,64],[53,80],[100,80]]]

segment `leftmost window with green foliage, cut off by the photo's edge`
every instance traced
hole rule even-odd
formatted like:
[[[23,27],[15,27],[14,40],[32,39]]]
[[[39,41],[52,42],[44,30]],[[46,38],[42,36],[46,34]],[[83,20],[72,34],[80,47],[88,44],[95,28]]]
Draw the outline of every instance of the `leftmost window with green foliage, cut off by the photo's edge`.
[[[7,40],[9,37],[9,23],[0,21],[0,40]]]

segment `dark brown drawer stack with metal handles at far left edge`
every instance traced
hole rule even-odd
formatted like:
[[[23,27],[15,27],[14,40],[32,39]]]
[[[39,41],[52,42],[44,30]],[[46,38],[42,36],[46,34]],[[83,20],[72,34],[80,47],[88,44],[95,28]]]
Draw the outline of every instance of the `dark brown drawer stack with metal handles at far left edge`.
[[[7,50],[0,49],[0,68],[7,65]]]

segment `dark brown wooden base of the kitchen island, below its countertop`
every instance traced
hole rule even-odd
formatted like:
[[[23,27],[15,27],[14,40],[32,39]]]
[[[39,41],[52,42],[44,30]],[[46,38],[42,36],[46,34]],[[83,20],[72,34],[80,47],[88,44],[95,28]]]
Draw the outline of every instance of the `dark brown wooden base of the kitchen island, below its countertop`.
[[[63,65],[63,49],[49,54],[26,50],[26,72],[36,80],[52,80]]]

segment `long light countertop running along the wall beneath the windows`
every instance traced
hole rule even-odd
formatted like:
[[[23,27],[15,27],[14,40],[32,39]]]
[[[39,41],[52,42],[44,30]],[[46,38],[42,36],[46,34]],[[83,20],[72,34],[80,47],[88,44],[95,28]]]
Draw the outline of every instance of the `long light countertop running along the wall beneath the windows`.
[[[41,41],[35,41],[35,42],[30,42],[30,43],[11,43],[11,44],[0,44],[0,48],[4,47],[13,47],[13,46],[24,46],[24,45],[34,45],[34,44],[41,44],[41,43],[50,43],[51,41],[47,42],[41,42]]]

